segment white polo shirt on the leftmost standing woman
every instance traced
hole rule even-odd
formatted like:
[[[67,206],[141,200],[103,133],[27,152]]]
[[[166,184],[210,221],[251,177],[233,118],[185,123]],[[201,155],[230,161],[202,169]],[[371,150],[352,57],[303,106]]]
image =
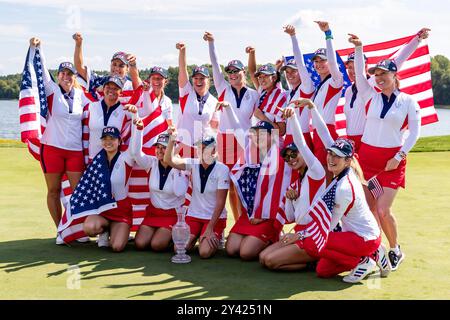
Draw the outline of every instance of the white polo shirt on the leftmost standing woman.
[[[45,94],[48,114],[41,143],[65,150],[82,151],[83,108],[90,103],[83,90],[73,88],[69,93],[72,106],[64,97],[59,85],[53,81],[45,84]]]

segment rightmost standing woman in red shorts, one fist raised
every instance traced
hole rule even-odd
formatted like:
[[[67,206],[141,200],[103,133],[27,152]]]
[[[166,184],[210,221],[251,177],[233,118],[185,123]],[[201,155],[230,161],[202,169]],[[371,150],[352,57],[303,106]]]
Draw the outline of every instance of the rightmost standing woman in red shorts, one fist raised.
[[[364,177],[369,180],[376,176],[381,188],[376,199],[366,190],[367,199],[389,241],[389,261],[392,270],[396,270],[405,255],[398,244],[397,222],[391,207],[398,189],[405,188],[406,157],[420,136],[420,106],[413,97],[399,90],[398,66],[393,60],[382,60],[368,70],[375,75],[381,90],[377,92],[364,71],[361,40],[350,35],[349,41],[355,45],[358,94],[365,102],[370,100],[359,151],[361,167]],[[405,139],[406,129],[409,135]]]

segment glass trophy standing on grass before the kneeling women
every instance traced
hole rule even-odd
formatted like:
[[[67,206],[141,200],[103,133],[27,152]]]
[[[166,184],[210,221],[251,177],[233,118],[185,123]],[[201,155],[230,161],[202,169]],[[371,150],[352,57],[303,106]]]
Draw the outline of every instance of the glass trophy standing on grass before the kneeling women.
[[[172,227],[172,240],[175,244],[175,250],[177,254],[172,257],[173,263],[189,263],[191,257],[186,254],[186,246],[191,236],[191,230],[189,225],[185,221],[185,215],[187,212],[186,207],[177,209],[178,221]]]

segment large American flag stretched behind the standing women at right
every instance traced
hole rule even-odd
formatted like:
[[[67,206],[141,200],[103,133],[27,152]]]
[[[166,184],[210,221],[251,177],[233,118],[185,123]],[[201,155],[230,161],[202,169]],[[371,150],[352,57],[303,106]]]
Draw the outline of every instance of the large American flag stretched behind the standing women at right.
[[[377,62],[383,59],[394,58],[399,49],[414,39],[415,35],[403,37],[400,39],[365,45],[363,47],[364,54],[368,58],[369,68],[373,67]],[[344,75],[344,91],[351,85],[350,80],[342,61],[346,61],[347,57],[354,52],[354,48],[336,50],[339,69]],[[320,83],[317,73],[313,70],[311,60],[312,54],[303,55],[305,65],[311,75],[311,79],[316,86]],[[293,57],[287,57],[286,60]],[[430,71],[430,52],[426,41],[422,41],[417,49],[411,54],[408,60],[403,64],[398,72],[400,78],[400,89],[402,92],[412,95],[420,105],[420,114],[422,117],[422,125],[434,123],[438,121],[437,113],[434,108],[433,90],[431,83]],[[339,99],[336,108],[336,129],[340,136],[346,135],[345,114],[344,114],[344,96]]]

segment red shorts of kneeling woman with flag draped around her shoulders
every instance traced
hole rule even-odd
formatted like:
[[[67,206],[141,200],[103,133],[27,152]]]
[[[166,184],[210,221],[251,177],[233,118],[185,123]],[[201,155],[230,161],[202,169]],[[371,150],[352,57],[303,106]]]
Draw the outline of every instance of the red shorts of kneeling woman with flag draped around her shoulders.
[[[254,236],[264,242],[275,243],[280,239],[282,229],[273,220],[265,220],[259,224],[251,224],[246,214],[241,214],[238,221],[231,228],[230,233]]]

